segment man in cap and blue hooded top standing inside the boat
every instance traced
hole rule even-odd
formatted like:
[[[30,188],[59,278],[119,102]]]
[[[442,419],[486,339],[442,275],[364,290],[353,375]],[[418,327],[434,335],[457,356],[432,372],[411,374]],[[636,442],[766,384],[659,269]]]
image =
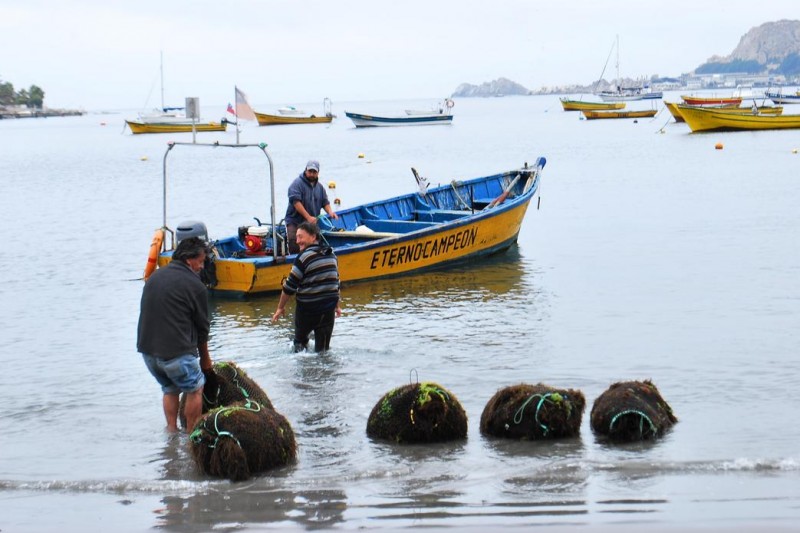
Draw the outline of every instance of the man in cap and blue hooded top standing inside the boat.
[[[325,210],[331,218],[339,216],[331,209],[328,193],[319,183],[319,161],[306,163],[306,169],[289,185],[289,207],[286,209],[286,240],[289,253],[300,251],[297,245],[297,226],[302,222],[315,222],[320,211]]]

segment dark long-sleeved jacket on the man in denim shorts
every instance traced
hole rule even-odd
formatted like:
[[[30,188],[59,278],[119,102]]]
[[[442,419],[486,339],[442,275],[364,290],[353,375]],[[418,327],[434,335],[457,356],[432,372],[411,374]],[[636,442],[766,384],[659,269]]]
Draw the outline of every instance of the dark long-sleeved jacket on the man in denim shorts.
[[[183,261],[156,270],[142,291],[136,348],[160,359],[197,354],[208,331],[208,294],[200,277]]]

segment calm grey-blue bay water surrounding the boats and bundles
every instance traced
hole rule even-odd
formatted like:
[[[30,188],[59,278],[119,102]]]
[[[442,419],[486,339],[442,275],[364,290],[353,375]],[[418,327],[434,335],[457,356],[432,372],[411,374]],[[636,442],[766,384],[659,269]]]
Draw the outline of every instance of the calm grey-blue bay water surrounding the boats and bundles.
[[[279,217],[310,158],[342,207],[415,191],[412,166],[436,185],[548,164],[517,247],[345,286],[327,354],[291,352],[291,318],[270,323],[277,296],[211,301],[212,357],[246,370],[298,442],[295,465],[242,483],[202,475],[186,436],[165,433],[136,352],[165,149],[191,134],[133,136],[135,111],[0,121],[0,531],[796,528],[800,134],[690,134],[663,109],[586,121],[555,96],[457,99],[451,126],[344,116],[435,103],[243,125],[241,142],[268,144]],[[171,227],[201,220],[221,238],[269,220],[258,150],[180,146],[168,175]],[[367,438],[373,405],[417,379],[458,397],[466,441]],[[651,379],[679,422],[607,444],[591,405],[632,379]],[[483,437],[486,402],[520,382],[580,389],[580,437]]]

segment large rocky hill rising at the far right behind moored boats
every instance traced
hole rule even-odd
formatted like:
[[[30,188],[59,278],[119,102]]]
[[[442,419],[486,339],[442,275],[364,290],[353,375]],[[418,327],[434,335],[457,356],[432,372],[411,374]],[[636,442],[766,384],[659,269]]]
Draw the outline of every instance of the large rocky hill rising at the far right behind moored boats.
[[[695,74],[800,74],[800,20],[767,22],[750,29],[730,55],[713,56]]]

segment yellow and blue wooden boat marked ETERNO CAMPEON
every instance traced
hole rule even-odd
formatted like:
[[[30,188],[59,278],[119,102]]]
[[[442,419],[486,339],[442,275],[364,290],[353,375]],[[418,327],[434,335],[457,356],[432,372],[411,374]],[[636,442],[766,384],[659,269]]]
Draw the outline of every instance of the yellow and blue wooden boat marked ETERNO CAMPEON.
[[[156,265],[169,263],[180,239],[208,239],[202,222],[181,223],[175,230],[167,226],[167,156],[181,145],[198,146],[169,143],[164,155],[164,220],[151,245],[145,279]],[[213,268],[206,269],[210,291],[234,297],[280,291],[295,256],[286,251],[286,227],[275,216],[273,164],[266,145],[204,146],[262,150],[269,161],[272,203],[270,223],[241,226],[234,235],[209,240],[213,245]],[[337,211],[338,219],[321,216],[318,224],[338,257],[342,282],[416,274],[507,250],[516,243],[528,205],[538,193],[545,162],[539,157],[531,166],[525,163],[514,170],[431,189],[414,171],[419,192]]]

